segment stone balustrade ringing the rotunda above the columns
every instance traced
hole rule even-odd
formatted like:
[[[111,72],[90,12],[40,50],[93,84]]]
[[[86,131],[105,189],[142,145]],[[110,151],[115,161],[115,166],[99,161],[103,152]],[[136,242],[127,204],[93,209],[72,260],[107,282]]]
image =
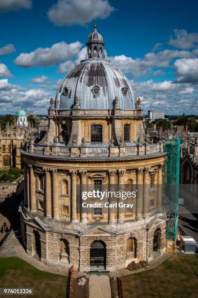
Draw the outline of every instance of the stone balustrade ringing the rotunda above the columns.
[[[26,149],[25,149],[26,148]],[[33,144],[24,145],[24,149],[31,153],[43,155],[60,155],[60,156],[73,156],[73,157],[94,157],[94,156],[136,156],[136,155],[149,155],[152,153],[163,152],[163,144],[136,144],[126,147],[100,147],[100,146],[79,146],[79,147],[66,147],[63,144],[57,143],[55,145],[40,145]]]

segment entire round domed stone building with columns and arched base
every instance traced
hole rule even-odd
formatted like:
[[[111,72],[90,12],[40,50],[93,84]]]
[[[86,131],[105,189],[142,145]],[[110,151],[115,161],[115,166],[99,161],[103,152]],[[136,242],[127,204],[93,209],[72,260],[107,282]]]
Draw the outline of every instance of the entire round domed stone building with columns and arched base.
[[[25,136],[25,201],[21,229],[27,254],[52,266],[117,270],[165,252],[161,139],[152,144],[143,128],[141,100],[128,79],[105,59],[94,31],[87,54],[51,98],[49,127],[34,144]],[[77,186],[142,185],[134,207],[79,212]]]

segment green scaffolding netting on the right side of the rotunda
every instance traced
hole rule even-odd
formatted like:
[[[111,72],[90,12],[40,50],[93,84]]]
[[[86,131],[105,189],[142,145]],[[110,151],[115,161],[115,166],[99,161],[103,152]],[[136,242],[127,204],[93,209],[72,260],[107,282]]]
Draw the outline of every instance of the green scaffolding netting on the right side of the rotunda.
[[[166,239],[175,241],[178,230],[181,134],[163,142],[167,154],[164,165],[163,203],[167,215]]]

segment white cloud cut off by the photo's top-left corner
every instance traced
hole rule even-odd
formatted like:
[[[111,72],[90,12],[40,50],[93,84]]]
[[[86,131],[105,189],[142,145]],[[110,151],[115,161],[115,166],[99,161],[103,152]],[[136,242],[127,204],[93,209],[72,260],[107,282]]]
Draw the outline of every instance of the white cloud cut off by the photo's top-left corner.
[[[5,13],[8,11],[17,11],[21,8],[32,7],[31,0],[1,0],[0,1],[0,13]]]

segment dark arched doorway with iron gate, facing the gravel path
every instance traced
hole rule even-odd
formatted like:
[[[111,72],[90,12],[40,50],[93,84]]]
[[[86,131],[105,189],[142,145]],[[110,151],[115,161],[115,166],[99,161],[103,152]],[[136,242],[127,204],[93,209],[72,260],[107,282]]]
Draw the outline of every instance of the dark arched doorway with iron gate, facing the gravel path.
[[[90,266],[106,267],[106,244],[103,241],[94,241],[90,248]]]

